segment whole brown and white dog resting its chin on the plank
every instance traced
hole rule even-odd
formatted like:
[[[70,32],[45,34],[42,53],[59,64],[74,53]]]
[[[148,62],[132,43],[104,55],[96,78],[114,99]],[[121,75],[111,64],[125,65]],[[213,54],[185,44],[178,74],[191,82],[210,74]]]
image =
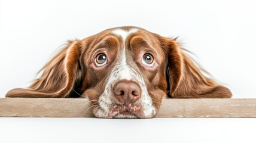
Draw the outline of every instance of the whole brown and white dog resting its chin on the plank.
[[[28,89],[6,97],[87,97],[96,117],[150,118],[163,98],[230,98],[176,39],[139,27],[107,29],[69,41]]]

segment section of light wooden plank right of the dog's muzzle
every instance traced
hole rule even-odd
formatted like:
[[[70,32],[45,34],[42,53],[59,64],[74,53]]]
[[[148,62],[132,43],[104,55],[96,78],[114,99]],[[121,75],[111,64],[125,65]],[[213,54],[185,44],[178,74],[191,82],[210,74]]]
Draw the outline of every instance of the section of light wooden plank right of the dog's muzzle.
[[[163,100],[157,117],[256,117],[256,98]]]

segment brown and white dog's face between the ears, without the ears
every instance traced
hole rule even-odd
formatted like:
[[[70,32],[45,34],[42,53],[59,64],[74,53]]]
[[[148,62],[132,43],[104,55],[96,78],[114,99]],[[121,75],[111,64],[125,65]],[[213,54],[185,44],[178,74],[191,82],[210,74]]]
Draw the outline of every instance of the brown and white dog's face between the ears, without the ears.
[[[97,117],[152,117],[166,97],[166,59],[157,38],[138,29],[111,29],[85,52],[84,91]],[[86,57],[86,56],[83,56]]]

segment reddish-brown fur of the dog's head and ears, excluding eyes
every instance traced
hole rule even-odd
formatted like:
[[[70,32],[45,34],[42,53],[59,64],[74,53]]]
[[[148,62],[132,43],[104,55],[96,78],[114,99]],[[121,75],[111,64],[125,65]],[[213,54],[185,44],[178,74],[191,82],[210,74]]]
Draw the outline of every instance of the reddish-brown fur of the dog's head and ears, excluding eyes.
[[[133,27],[118,27],[129,30]],[[28,89],[13,89],[6,97],[65,98],[88,96],[98,100],[116,62],[121,38],[107,29],[68,45],[41,69],[42,75]],[[206,77],[175,39],[139,29],[126,39],[129,65],[140,73],[156,108],[162,98],[230,98],[231,92]],[[155,55],[155,69],[139,64],[142,51]],[[95,69],[95,55],[106,52],[108,65]],[[75,92],[74,92],[75,91]],[[95,102],[96,103],[96,102]]]

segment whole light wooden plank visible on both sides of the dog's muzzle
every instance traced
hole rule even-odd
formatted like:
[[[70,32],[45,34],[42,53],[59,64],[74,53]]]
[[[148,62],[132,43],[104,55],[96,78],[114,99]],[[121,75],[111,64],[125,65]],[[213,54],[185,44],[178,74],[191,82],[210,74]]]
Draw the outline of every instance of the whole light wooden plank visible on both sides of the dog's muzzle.
[[[0,98],[0,117],[94,117],[86,98]],[[256,117],[256,99],[165,99],[156,117]]]

